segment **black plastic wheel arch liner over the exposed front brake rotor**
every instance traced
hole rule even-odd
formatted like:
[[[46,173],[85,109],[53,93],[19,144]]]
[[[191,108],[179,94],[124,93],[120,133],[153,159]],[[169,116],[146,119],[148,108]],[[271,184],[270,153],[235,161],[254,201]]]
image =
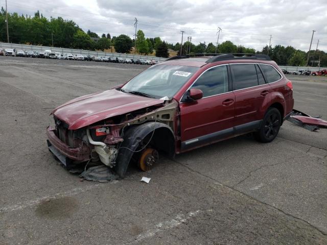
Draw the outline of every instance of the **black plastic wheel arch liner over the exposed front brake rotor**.
[[[151,136],[152,138],[150,138]],[[121,178],[126,174],[134,151],[137,150],[139,143],[145,138],[151,139],[151,144],[154,144],[157,150],[164,151],[171,157],[174,156],[175,137],[174,132],[168,125],[151,121],[138,126],[131,126],[126,130],[114,167],[114,170]]]

